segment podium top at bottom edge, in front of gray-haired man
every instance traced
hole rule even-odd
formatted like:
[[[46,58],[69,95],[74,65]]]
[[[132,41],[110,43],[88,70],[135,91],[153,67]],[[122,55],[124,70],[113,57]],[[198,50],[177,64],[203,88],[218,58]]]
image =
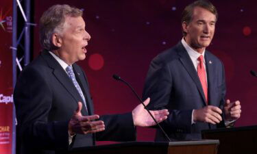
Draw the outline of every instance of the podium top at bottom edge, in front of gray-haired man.
[[[219,140],[125,142],[74,149],[69,154],[217,154]]]

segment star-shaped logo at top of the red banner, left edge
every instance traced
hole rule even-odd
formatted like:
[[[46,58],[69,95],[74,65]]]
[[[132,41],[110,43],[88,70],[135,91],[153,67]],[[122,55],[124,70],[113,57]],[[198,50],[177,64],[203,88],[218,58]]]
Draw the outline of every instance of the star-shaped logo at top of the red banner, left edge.
[[[12,32],[12,16],[7,16],[6,15],[9,12],[10,12],[10,10],[5,12],[5,14],[3,15],[3,9],[1,8],[1,11],[0,11],[0,27],[1,27],[1,29],[3,29],[3,31]],[[3,23],[6,24],[6,27],[4,26]]]

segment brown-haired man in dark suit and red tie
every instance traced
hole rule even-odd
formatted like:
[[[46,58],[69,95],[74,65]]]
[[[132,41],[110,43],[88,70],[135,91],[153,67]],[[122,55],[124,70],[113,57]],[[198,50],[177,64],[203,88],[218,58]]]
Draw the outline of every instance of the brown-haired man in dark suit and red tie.
[[[182,40],[151,61],[143,99],[149,108],[168,108],[162,123],[172,140],[201,138],[201,130],[232,125],[241,116],[239,101],[225,101],[222,62],[206,47],[215,34],[217,10],[210,1],[195,1],[182,13]],[[158,129],[156,140],[166,138]]]

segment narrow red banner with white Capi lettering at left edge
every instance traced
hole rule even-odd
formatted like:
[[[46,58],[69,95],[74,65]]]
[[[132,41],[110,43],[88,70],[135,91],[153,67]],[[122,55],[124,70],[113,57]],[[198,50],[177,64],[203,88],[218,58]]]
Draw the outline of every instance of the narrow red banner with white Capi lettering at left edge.
[[[0,1],[0,153],[12,153],[12,1]]]

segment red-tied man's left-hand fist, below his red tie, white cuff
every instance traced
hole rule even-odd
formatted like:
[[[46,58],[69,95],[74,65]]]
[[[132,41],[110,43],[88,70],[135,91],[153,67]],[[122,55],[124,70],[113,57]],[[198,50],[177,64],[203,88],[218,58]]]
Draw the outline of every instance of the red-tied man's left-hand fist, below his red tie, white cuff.
[[[194,122],[205,122],[211,123],[213,125],[220,123],[222,118],[222,111],[219,107],[208,105],[204,108],[194,110],[193,112],[193,120]]]

